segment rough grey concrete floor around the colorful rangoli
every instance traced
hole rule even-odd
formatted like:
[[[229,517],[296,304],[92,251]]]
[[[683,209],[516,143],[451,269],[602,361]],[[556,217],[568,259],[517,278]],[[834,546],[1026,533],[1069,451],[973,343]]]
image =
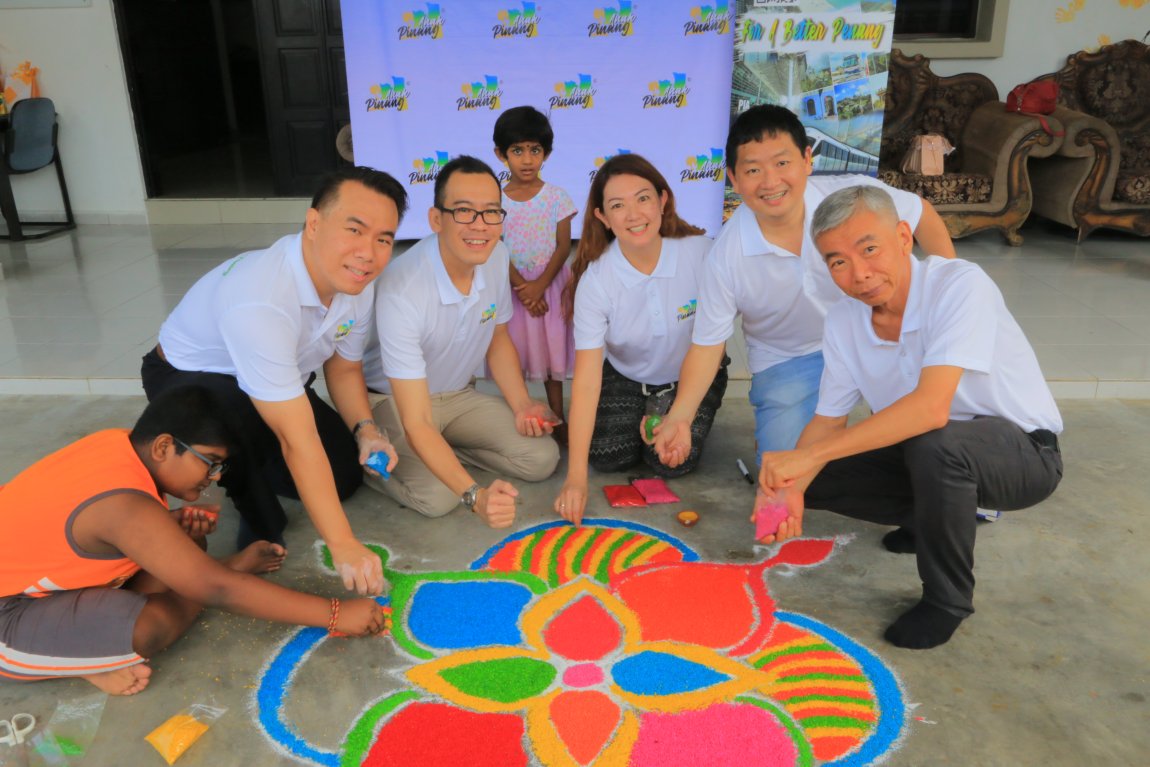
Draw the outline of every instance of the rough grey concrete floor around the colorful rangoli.
[[[126,427],[143,408],[131,397],[0,397],[0,477],[93,430]],[[883,628],[919,596],[911,557],[879,546],[884,529],[811,512],[808,536],[851,535],[820,567],[772,576],[780,609],[827,623],[877,653],[899,677],[914,706],[890,765],[1147,765],[1150,764],[1150,401],[1066,400],[1066,478],[1041,506],[980,529],[977,613],[951,642],[905,651],[882,639]],[[745,400],[728,398],[700,470],[676,480],[683,504],[607,514],[680,537],[711,561],[765,558],[745,522],[750,486],[735,458],[750,461]],[[550,521],[561,483],[522,486],[513,529]],[[1138,478],[1142,477],[1142,478]],[[593,477],[606,484],[622,477]],[[684,529],[674,512],[691,507],[702,522]],[[315,532],[298,504],[289,506],[291,555],[278,583],[338,596],[314,554]],[[363,489],[347,504],[355,530],[388,545],[392,566],[465,569],[505,534],[453,514],[425,520]],[[619,509],[624,511],[626,509]],[[225,514],[214,552],[227,552],[235,517]],[[144,736],[197,701],[228,713],[178,762],[290,765],[261,734],[252,713],[263,664],[292,627],[208,612],[186,637],[154,658],[141,695],[109,698],[86,767],[160,765]],[[388,685],[385,673],[404,658],[390,641],[329,642],[296,681],[288,710],[309,742],[336,749],[348,723]],[[94,691],[82,681],[0,682],[0,718],[18,712],[46,722],[57,704]],[[0,765],[14,754],[0,745]],[[9,761],[10,764],[10,761]],[[18,762],[17,762],[18,764]],[[700,765],[700,767],[704,767]]]

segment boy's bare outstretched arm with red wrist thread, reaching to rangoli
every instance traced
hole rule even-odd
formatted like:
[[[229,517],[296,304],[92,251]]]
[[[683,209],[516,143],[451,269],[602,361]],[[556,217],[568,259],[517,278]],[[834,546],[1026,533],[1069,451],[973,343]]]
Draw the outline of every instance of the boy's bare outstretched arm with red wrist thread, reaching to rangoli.
[[[224,567],[204,553],[163,506],[137,493],[116,493],[85,507],[72,523],[77,543],[93,553],[118,552],[186,599],[282,623],[328,626],[331,600]],[[378,634],[383,614],[371,599],[345,603],[339,629]]]

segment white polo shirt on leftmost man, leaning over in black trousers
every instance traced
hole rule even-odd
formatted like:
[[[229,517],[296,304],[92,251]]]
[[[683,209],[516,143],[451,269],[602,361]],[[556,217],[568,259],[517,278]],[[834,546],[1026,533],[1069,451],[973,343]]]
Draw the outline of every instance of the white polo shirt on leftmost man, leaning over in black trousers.
[[[307,377],[332,354],[363,356],[371,291],[320,301],[304,264],[301,235],[224,261],[192,285],[160,328],[160,345],[179,370],[236,376],[253,399],[304,394]]]

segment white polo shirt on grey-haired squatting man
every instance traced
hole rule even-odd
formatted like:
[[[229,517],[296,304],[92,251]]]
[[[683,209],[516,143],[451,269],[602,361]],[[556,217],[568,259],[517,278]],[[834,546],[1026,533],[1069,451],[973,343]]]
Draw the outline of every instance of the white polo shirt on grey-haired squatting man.
[[[922,368],[948,365],[964,369],[951,420],[997,415],[1027,432],[1060,432],[1038,360],[994,281],[961,259],[908,258],[911,289],[897,342],[875,335],[862,301],[844,297],[831,307],[815,413],[846,415],[859,397],[877,413],[914,391]]]

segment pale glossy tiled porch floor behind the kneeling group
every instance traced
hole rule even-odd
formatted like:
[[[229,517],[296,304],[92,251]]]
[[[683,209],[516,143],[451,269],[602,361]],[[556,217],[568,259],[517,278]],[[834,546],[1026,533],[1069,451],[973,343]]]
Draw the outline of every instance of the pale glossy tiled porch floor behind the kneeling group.
[[[0,243],[0,393],[138,393],[140,356],[168,312],[220,261],[291,224],[110,227]],[[1150,241],[1032,224],[958,254],[998,283],[1059,398],[1150,398]],[[733,344],[745,376],[742,344]]]

